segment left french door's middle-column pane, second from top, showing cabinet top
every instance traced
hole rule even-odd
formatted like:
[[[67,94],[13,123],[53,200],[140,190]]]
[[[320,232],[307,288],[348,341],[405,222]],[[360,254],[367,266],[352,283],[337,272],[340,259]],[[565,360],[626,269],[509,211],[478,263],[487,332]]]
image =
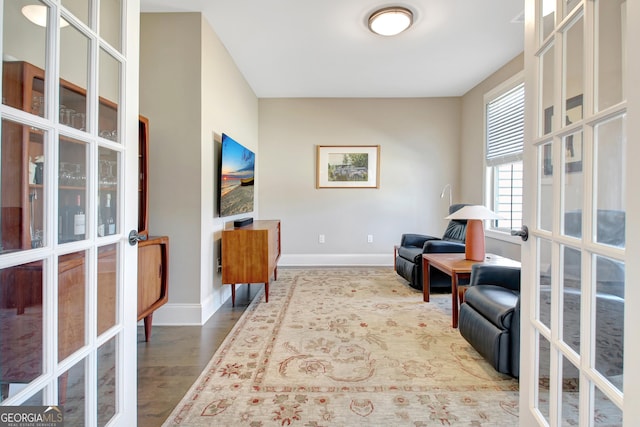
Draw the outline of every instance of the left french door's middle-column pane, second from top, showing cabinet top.
[[[89,80],[89,39],[74,26],[60,31],[59,122],[86,130]]]

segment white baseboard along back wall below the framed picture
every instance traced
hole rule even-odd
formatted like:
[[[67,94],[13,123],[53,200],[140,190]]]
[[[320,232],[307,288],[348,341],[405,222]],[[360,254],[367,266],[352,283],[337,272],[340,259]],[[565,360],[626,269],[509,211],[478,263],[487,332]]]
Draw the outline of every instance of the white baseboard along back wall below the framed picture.
[[[393,266],[393,254],[283,254],[279,267]]]

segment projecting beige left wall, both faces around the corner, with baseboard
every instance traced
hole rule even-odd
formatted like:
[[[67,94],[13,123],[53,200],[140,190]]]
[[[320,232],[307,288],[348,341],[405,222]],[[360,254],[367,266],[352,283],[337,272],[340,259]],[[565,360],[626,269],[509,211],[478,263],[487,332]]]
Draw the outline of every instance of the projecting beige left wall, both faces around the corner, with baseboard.
[[[215,271],[214,133],[257,151],[258,100],[200,13],[141,14],[149,230],[170,239],[169,303],[154,323],[202,323],[230,295]]]

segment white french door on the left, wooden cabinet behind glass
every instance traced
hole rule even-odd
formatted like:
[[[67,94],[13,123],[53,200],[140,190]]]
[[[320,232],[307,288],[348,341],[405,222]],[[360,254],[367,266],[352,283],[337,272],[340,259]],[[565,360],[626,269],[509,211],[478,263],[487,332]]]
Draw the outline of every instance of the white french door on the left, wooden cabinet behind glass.
[[[0,13],[0,405],[135,425],[139,4]]]

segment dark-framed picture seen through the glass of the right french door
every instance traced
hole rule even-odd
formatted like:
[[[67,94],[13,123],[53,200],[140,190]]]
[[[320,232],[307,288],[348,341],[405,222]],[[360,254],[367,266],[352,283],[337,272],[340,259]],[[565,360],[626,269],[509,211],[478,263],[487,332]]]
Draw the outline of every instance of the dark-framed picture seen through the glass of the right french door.
[[[570,125],[574,122],[582,120],[582,95],[577,95],[567,99],[565,113],[565,125]],[[544,110],[545,135],[551,132],[552,120],[553,106]],[[566,137],[564,137],[563,143],[565,150],[565,172],[572,173],[582,171],[582,131],[567,135]],[[543,175],[550,176],[553,174],[553,165],[551,163],[551,144],[545,145],[543,156]]]

